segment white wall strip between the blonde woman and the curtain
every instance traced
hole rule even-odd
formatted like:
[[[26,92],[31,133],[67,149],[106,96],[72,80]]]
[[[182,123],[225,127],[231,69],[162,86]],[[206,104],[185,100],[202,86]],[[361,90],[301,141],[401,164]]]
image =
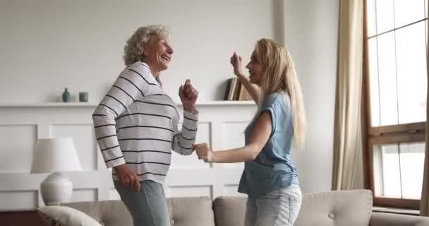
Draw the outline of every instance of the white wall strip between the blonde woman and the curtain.
[[[294,151],[303,192],[329,191],[332,182],[339,0],[286,0],[286,46],[303,88],[306,148]]]

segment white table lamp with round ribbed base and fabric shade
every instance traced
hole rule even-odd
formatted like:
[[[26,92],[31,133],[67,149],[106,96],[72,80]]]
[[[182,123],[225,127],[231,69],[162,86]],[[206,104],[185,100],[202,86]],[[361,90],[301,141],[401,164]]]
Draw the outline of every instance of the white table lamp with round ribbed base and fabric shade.
[[[80,162],[72,138],[37,140],[31,172],[52,172],[40,184],[40,192],[45,205],[56,205],[70,201],[73,184],[61,172],[78,170],[80,170]]]

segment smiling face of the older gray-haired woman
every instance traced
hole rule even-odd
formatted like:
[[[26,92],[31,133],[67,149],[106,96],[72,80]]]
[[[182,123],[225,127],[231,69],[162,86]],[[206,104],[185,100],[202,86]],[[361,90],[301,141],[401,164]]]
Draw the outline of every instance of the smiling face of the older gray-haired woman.
[[[143,61],[150,67],[156,76],[160,71],[167,70],[174,53],[167,37],[154,35],[151,42],[143,43]]]

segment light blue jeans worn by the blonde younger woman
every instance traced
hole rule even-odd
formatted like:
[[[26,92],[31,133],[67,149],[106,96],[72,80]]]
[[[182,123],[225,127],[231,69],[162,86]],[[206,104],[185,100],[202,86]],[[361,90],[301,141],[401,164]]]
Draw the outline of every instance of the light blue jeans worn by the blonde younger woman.
[[[301,189],[296,184],[272,191],[260,198],[248,198],[244,225],[294,225],[301,202]]]

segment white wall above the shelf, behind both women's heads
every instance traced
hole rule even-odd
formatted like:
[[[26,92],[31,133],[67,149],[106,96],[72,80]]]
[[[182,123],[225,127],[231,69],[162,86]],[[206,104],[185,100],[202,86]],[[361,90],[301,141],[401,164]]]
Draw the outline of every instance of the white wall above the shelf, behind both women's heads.
[[[281,33],[277,2],[1,0],[0,102],[54,102],[65,87],[98,102],[123,69],[126,40],[149,24],[171,28],[164,88],[176,97],[191,78],[200,101],[221,100],[231,54],[247,60],[255,40]]]

